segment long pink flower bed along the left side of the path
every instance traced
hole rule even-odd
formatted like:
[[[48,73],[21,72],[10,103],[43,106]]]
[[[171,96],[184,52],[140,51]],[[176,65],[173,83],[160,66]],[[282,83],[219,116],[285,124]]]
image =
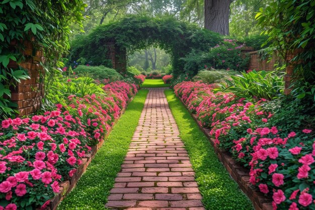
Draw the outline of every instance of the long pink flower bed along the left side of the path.
[[[45,209],[109,132],[137,89],[114,82],[106,95],[69,96],[67,105],[30,118],[2,121],[0,209]]]

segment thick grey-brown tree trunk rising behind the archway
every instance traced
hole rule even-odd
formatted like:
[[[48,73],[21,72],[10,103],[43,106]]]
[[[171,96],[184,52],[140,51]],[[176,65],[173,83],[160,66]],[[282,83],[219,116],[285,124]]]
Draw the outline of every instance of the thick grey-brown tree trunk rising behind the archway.
[[[229,35],[228,17],[231,0],[204,1],[204,28],[222,35]]]

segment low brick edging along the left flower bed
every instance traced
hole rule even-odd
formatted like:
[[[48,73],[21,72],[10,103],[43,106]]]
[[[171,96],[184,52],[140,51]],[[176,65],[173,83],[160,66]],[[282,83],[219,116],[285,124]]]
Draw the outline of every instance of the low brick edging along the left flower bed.
[[[66,195],[73,189],[73,187],[75,187],[77,181],[81,178],[81,176],[87,170],[89,164],[91,163],[92,159],[96,155],[97,151],[103,146],[105,142],[105,138],[107,138],[108,135],[111,133],[115,124],[118,122],[120,117],[125,113],[129,103],[133,100],[134,97],[135,96],[133,96],[132,98],[128,100],[126,108],[120,111],[119,117],[113,122],[113,125],[109,129],[108,133],[103,137],[102,141],[99,142],[97,145],[93,146],[91,152],[86,155],[86,158],[82,159],[82,164],[77,168],[76,172],[73,174],[71,179],[59,183],[60,192],[58,193],[58,195],[50,199],[50,203],[48,207],[46,208],[46,210],[56,210],[59,203],[66,197]]]

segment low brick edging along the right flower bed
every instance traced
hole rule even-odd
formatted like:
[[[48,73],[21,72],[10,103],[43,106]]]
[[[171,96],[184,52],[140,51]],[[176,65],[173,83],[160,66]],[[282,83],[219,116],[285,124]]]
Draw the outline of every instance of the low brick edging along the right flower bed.
[[[177,97],[177,96],[176,96]],[[180,101],[183,103],[185,108],[187,109],[186,104],[184,101],[180,99]],[[187,109],[188,110],[188,109]],[[214,140],[211,138],[210,135],[210,129],[202,127],[198,123],[198,118],[196,114],[191,113],[189,110],[188,112],[192,116],[192,118],[196,121],[199,128],[202,130],[202,132],[207,136],[209,139],[209,142],[211,143],[215,154],[217,155],[218,159],[221,161],[221,163],[226,168],[227,172],[230,174],[230,176],[237,182],[241,188],[241,190],[244,192],[244,194],[247,195],[247,197],[252,201],[253,206],[255,210],[272,210],[272,199],[271,197],[265,196],[265,194],[257,191],[250,183],[250,176],[249,176],[249,170],[244,168],[238,161],[235,161],[232,159],[232,156],[227,153],[226,151],[218,148],[214,144]]]

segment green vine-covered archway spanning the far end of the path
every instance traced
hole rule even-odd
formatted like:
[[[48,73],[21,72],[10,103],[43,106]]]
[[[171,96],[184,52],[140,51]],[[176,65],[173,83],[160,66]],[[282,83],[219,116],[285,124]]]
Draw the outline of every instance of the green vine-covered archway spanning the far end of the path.
[[[214,32],[173,17],[129,16],[101,25],[88,35],[78,36],[71,46],[70,60],[84,57],[92,65],[114,67],[123,72],[126,53],[159,46],[171,55],[174,75],[183,72],[185,57],[192,50],[208,50],[222,40]]]

